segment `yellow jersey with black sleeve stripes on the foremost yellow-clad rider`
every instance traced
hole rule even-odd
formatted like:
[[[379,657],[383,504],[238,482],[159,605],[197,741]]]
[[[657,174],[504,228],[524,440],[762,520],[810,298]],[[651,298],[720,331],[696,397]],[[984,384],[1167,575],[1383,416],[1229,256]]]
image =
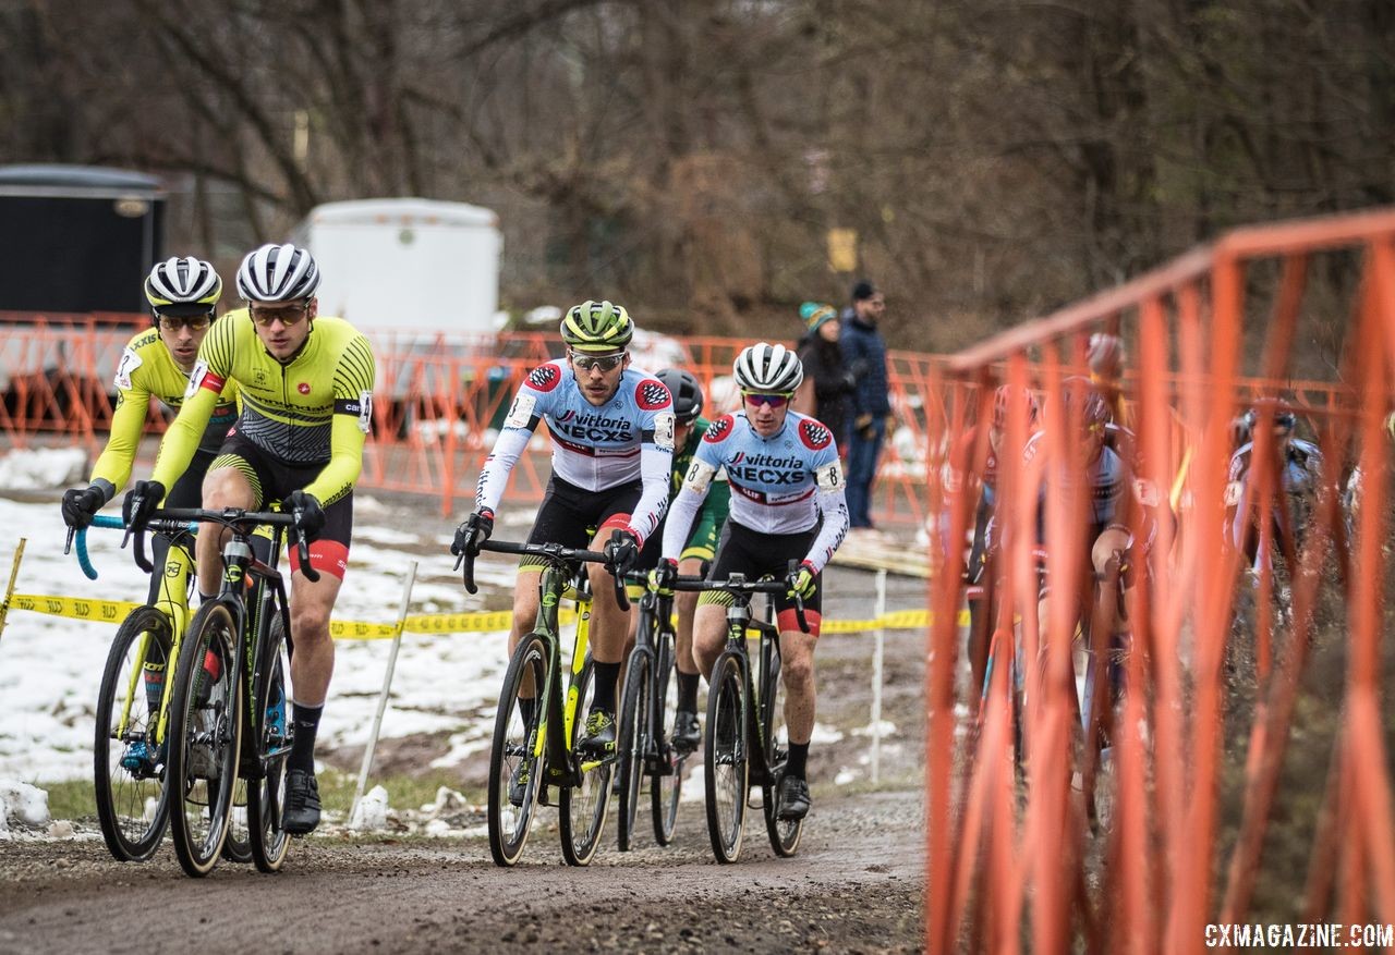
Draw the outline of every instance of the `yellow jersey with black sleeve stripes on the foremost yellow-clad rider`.
[[[342,318],[315,318],[289,362],[271,356],[246,308],[223,315],[198,349],[184,407],[160,442],[153,480],[166,488],[188,466],[227,382],[241,413],[233,429],[293,467],[322,464],[306,492],[328,506],[353,489],[372,421],[377,369],[368,339]]]

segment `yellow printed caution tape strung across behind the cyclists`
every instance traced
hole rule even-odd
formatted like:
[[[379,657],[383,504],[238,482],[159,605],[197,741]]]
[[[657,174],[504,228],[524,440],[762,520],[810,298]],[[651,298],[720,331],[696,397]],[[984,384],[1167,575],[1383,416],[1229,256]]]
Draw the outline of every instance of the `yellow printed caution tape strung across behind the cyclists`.
[[[130,601],[96,601],[77,597],[50,597],[47,594],[15,594],[10,598],[10,609],[33,611],[53,616],[67,616],[78,620],[119,623],[140,604]],[[558,613],[564,625],[576,620],[576,611],[568,608]],[[868,620],[823,620],[822,633],[865,633],[870,630],[918,630],[933,620],[929,611],[893,611]],[[491,611],[477,613],[414,613],[402,623],[403,633],[448,634],[448,633],[498,633],[513,623],[512,611]],[[960,626],[968,626],[968,611],[960,611]],[[329,633],[336,640],[391,640],[398,636],[395,623],[367,623],[363,620],[332,620]]]

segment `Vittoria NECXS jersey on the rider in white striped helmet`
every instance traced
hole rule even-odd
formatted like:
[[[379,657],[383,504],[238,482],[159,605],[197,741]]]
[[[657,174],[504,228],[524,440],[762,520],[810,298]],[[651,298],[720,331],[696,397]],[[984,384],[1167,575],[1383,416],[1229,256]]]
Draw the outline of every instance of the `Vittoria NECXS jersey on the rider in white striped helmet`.
[[[795,534],[812,528],[822,514],[823,527],[805,556],[815,572],[822,570],[848,533],[833,432],[795,411],[770,438],[757,435],[744,411],[713,421],[674,501],[663,556],[678,558],[693,514],[721,468],[727,468],[731,485],[732,523],[762,534]]]

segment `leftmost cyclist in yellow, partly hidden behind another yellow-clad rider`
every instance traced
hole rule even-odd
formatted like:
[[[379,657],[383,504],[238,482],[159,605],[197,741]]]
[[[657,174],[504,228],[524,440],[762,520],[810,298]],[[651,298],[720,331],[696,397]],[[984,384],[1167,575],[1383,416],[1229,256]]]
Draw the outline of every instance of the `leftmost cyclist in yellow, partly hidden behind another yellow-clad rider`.
[[[184,404],[198,347],[208,335],[222,294],[223,280],[218,272],[197,258],[158,262],[145,277],[145,298],[155,328],[135,335],[121,353],[116,367],[116,413],[106,449],[92,467],[88,487],[71,488],[63,495],[63,520],[68,527],[91,524],[96,512],[126,487],[145,431],[151,397],[159,399],[172,411]],[[215,399],[188,468],[170,487],[172,507],[198,506],[204,473],[237,417],[236,395],[237,385],[229,382]],[[169,541],[156,538],[153,547],[155,566],[163,566]],[[159,598],[159,579],[152,577],[151,602]]]

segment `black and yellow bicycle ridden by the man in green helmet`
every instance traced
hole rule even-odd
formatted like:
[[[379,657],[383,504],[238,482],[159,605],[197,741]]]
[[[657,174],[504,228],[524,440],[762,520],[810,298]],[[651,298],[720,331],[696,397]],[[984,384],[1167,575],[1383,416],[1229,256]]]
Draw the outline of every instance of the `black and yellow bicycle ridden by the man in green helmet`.
[[[583,758],[576,749],[582,728],[578,714],[590,703],[587,694],[593,671],[587,652],[591,593],[582,565],[607,563],[608,558],[597,551],[559,544],[483,541],[480,549],[545,560],[538,581],[541,601],[537,625],[515,647],[499,690],[485,809],[490,855],[497,866],[516,864],[527,843],[538,800],[551,804],[547,790],[557,788],[562,857],[569,866],[586,866],[596,855],[605,828],[615,757]],[[463,563],[465,588],[472,594],[478,593],[474,556],[467,548],[456,560],[456,569]],[[557,620],[564,597],[576,601],[576,637],[565,700]],[[629,609],[622,577],[615,579],[615,599],[621,609]]]

